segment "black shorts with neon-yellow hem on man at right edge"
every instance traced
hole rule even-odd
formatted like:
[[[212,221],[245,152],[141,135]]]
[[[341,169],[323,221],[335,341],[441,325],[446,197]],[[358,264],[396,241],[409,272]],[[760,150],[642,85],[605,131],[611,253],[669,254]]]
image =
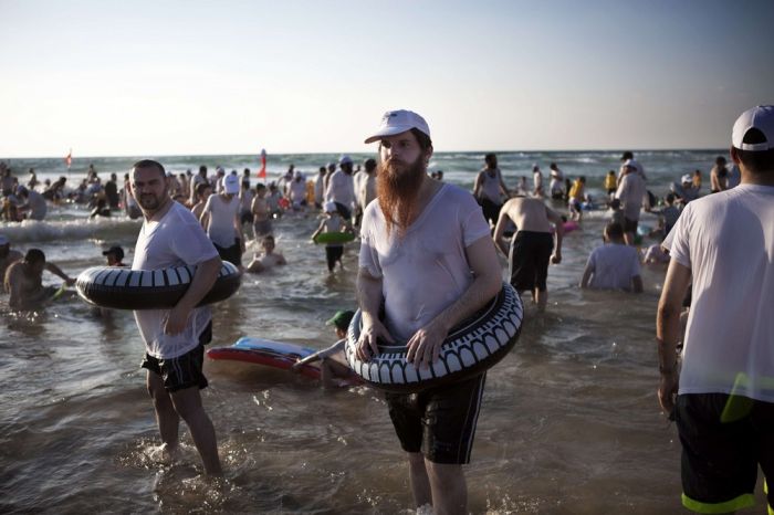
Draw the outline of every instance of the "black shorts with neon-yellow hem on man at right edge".
[[[677,398],[682,443],[682,504],[726,513],[754,504],[757,466],[774,479],[774,403],[725,393]],[[768,513],[774,488],[768,485]]]

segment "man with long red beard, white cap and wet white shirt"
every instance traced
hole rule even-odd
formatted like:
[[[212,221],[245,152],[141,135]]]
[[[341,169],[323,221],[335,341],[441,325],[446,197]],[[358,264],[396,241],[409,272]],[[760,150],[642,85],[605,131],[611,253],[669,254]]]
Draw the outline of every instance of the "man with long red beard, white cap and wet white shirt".
[[[432,141],[421,116],[386,113],[365,143],[374,141],[380,165],[377,198],[360,229],[357,353],[367,360],[378,353],[377,338],[406,341],[407,360],[428,367],[449,329],[496,295],[501,267],[473,197],[428,177]],[[467,513],[461,465],[470,461],[484,379],[482,374],[419,395],[386,395],[417,507],[429,503],[436,513]]]

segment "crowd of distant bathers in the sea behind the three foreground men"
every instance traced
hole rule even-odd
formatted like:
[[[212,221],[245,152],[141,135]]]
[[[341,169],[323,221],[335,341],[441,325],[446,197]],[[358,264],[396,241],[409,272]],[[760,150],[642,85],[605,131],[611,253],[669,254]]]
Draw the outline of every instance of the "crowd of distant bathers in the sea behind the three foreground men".
[[[632,153],[624,153],[620,161],[620,168],[609,170],[604,182],[598,185],[606,196],[595,199],[586,191],[585,176],[572,177],[556,162],[548,166],[547,190],[538,164],[532,167],[531,186],[527,186],[526,177],[521,176],[509,187],[498,166],[496,155],[484,156],[484,166],[475,177],[472,195],[492,228],[496,248],[509,259],[512,283],[522,292],[529,291],[540,306],[545,306],[547,298],[547,265],[561,261],[563,234],[578,227],[585,211],[604,209],[609,223],[603,231],[605,244],[588,256],[579,281],[582,287],[641,292],[639,265],[669,261],[668,251],[659,243],[642,248],[644,237],[666,238],[682,208],[704,193],[702,172],[684,174],[671,183],[663,198],[658,198],[647,188],[645,168]],[[273,221],[285,212],[318,214],[321,222],[311,234],[313,240],[323,232],[355,235],[365,207],[376,198],[377,169],[375,159],[355,165],[348,156],[342,156],[338,162],[321,166],[314,177],[307,177],[290,165],[285,174],[268,183],[255,179],[248,168],[240,174],[238,170],[227,172],[221,166],[216,167],[215,174],[201,166],[197,174],[189,169],[180,174],[167,172],[167,178],[170,197],[200,220],[221,258],[242,272],[262,273],[286,264],[284,255],[275,249],[273,229]],[[722,156],[715,159],[709,175],[709,192],[733,188],[740,181],[739,168],[728,167]],[[430,177],[442,181],[443,171],[432,171]],[[94,165],[90,165],[77,187],[70,188],[66,177],[39,181],[34,169],[30,169],[27,181],[22,181],[10,167],[0,162],[0,178],[2,220],[7,222],[43,220],[50,204],[63,202],[86,206],[91,218],[116,213],[130,219],[142,217],[129,189],[129,174],[125,174],[122,186],[118,186],[115,172],[103,182]],[[656,214],[658,224],[639,227],[641,212]],[[512,252],[504,238],[514,233],[515,252]],[[23,287],[18,274],[7,274],[7,271],[11,272],[13,261],[27,263],[29,260],[11,251],[6,237],[0,238],[3,242],[0,244],[0,277],[6,292],[11,295],[9,304],[12,308],[38,306],[60,292],[53,288],[53,293],[45,294],[40,273],[28,274],[30,280],[23,281]],[[257,252],[243,262],[249,239],[254,240]],[[553,250],[546,251],[550,248]],[[325,243],[324,249],[327,270],[333,273],[336,265],[341,269],[344,243]],[[119,262],[118,265],[124,264]],[[72,277],[51,263],[45,270],[57,271],[54,273],[64,278],[65,284],[73,283]]]

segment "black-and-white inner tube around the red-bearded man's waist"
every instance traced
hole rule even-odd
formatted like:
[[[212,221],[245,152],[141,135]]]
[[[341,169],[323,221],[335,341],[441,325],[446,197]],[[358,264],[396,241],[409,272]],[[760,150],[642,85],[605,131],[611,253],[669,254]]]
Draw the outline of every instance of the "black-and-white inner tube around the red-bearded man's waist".
[[[352,369],[369,385],[396,392],[417,392],[483,372],[500,361],[519,339],[524,308],[516,291],[503,283],[479,313],[449,332],[438,360],[421,369],[406,361],[405,345],[383,345],[368,361],[357,357],[360,311],[349,324],[345,355]]]

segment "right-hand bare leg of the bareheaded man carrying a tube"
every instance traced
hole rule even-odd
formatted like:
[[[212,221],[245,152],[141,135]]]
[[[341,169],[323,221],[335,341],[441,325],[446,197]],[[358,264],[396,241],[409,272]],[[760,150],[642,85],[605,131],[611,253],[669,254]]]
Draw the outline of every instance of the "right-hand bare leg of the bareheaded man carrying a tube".
[[[198,387],[185,388],[170,393],[175,411],[186,421],[191,432],[205,472],[209,475],[220,475],[220,459],[218,458],[218,443],[215,437],[212,421],[201,406],[201,395]]]

